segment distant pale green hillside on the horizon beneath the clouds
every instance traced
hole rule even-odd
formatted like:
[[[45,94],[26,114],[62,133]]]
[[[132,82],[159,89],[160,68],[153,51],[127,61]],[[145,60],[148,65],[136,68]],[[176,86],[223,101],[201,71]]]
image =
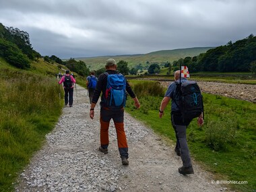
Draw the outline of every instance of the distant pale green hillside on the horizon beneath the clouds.
[[[117,62],[119,60],[125,60],[128,62],[129,68],[132,68],[136,64],[141,64],[142,66],[149,66],[151,63],[158,62],[172,62],[178,60],[179,58],[185,58],[186,56],[197,56],[200,53],[206,52],[211,47],[204,48],[184,48],[175,50],[160,50],[156,52],[150,52],[148,54],[135,54],[135,55],[121,55],[121,56],[98,56],[90,58],[75,58],[75,60],[82,60],[86,62],[87,66],[91,70],[97,70],[104,67],[105,61],[108,58],[114,58]],[[149,64],[146,64],[149,62]]]

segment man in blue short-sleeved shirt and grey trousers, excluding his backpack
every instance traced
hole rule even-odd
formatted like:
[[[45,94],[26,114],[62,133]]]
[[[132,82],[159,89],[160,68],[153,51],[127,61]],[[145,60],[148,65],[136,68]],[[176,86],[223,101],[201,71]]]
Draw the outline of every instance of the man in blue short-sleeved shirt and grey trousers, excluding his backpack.
[[[159,109],[159,117],[162,118],[164,115],[164,109],[168,105],[170,99],[171,101],[171,123],[172,127],[174,128],[176,138],[177,138],[177,144],[175,147],[175,152],[178,156],[181,156],[181,160],[183,161],[183,166],[179,167],[179,173],[183,175],[187,174],[193,174],[193,166],[191,164],[191,157],[189,154],[189,148],[187,146],[187,138],[186,138],[186,129],[187,126],[189,126],[189,123],[193,119],[193,117],[188,117],[189,113],[187,111],[187,117],[185,117],[183,113],[183,108],[181,106],[181,100],[179,99],[179,85],[189,85],[189,82],[194,81],[188,81],[185,78],[181,78],[180,70],[177,70],[174,73],[174,82],[171,83],[164,95],[164,98],[162,99],[162,103],[160,105]],[[195,82],[194,82],[195,83]],[[200,93],[201,94],[201,93]],[[199,95],[199,94],[198,94]],[[200,98],[198,98],[199,100]],[[202,102],[201,97],[201,102]],[[198,102],[197,102],[198,103]],[[189,110],[189,109],[188,109]],[[199,112],[197,113],[197,123],[199,126],[203,125],[203,109],[199,109]]]

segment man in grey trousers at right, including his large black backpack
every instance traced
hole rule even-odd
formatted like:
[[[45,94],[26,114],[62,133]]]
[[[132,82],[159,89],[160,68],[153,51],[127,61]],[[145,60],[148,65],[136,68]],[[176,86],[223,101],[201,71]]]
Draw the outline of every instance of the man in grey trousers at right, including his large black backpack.
[[[162,99],[159,117],[164,115],[164,109],[171,100],[171,123],[177,138],[174,148],[176,154],[181,156],[183,166],[178,171],[182,175],[193,174],[193,166],[187,145],[186,130],[193,118],[198,117],[197,124],[203,125],[203,97],[195,81],[188,81],[181,77],[181,70],[174,73],[174,82]]]

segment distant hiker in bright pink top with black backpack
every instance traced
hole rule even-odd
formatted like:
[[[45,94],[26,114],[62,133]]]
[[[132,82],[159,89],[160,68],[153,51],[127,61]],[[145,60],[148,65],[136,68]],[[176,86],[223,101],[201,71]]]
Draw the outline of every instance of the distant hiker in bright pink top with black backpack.
[[[75,79],[72,75],[69,75],[69,70],[66,70],[66,75],[61,77],[59,84],[63,83],[65,91],[65,105],[69,104],[69,107],[73,107],[73,84]]]

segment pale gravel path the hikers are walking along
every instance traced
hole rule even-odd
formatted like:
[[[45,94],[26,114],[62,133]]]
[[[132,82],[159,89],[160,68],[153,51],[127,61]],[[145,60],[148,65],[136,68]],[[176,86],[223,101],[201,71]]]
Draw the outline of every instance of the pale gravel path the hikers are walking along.
[[[194,175],[180,175],[182,161],[174,146],[127,113],[130,164],[121,164],[112,121],[108,154],[102,154],[98,150],[100,108],[96,107],[94,120],[89,111],[87,91],[77,85],[73,107],[63,107],[44,147],[20,174],[15,191],[228,191],[196,162]]]

